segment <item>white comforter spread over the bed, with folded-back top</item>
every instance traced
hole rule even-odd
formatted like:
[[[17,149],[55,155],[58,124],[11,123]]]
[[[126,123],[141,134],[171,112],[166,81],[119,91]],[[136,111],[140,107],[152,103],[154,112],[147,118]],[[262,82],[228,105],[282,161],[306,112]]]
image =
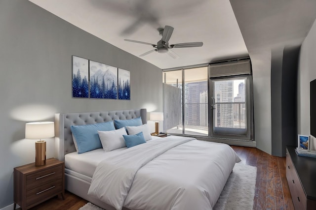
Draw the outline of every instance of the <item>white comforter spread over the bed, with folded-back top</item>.
[[[212,210],[239,161],[226,144],[169,136],[100,162],[88,195],[117,210]]]

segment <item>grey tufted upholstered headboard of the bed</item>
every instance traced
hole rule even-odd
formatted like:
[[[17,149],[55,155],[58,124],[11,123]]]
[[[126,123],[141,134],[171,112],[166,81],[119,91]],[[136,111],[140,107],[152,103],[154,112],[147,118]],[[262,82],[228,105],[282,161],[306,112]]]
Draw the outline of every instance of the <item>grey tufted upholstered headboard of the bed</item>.
[[[111,120],[130,120],[142,118],[143,124],[147,123],[146,109],[132,109],[104,112],[82,112],[82,113],[57,113],[55,114],[55,156],[64,160],[64,155],[76,151],[71,125],[85,125]]]

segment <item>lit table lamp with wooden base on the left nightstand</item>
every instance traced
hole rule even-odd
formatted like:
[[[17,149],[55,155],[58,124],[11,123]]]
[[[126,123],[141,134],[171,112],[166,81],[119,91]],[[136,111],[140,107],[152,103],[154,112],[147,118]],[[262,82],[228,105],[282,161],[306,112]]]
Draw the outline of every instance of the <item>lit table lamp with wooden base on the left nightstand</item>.
[[[25,124],[26,139],[40,139],[35,143],[35,165],[46,164],[46,142],[41,139],[55,136],[54,122],[29,122]]]

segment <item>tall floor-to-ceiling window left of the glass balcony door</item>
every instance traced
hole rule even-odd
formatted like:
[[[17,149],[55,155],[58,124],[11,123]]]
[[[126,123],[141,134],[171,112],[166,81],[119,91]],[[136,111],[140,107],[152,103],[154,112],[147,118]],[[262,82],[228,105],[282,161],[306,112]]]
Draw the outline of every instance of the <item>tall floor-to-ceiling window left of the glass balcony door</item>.
[[[208,136],[208,73],[207,66],[163,72],[164,115],[170,120],[178,109],[177,124],[164,123],[168,133]],[[169,86],[176,87],[174,91]],[[179,93],[180,92],[180,93]],[[180,101],[174,101],[179,98]]]

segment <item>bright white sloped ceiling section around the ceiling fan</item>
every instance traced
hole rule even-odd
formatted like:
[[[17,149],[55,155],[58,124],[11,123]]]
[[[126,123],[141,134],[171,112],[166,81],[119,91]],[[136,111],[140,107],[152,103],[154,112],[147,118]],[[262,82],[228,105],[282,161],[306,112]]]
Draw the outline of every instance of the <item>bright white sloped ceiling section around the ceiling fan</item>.
[[[229,0],[30,0],[100,39],[139,56],[154,49],[158,28],[174,28],[170,44],[202,41],[202,47],[172,49],[180,56],[144,57],[161,69],[248,56]]]

